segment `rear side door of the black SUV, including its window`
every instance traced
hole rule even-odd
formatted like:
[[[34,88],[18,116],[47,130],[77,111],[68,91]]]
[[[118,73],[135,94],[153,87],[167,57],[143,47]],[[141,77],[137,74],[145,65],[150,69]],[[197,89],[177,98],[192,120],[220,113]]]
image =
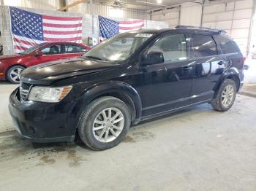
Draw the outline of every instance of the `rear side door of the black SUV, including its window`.
[[[217,44],[212,36],[194,34],[190,36],[194,61],[194,77],[191,104],[210,100],[214,87],[225,71],[225,56],[218,54]]]

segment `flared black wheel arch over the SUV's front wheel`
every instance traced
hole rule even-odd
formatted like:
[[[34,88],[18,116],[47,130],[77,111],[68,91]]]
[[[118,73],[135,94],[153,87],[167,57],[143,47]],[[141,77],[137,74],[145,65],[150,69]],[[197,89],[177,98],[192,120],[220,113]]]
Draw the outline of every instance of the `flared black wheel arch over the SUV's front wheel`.
[[[134,87],[119,81],[99,82],[94,84],[84,90],[82,109],[91,101],[102,96],[113,96],[124,101],[124,103],[129,106],[129,110],[132,113],[132,123],[136,124],[139,122],[142,114],[142,104],[140,95]]]

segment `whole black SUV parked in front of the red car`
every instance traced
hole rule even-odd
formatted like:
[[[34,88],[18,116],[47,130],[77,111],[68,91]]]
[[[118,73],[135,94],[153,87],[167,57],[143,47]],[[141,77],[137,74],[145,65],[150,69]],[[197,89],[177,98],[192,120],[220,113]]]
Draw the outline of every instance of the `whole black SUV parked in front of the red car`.
[[[118,34],[81,58],[23,71],[10,95],[15,128],[31,141],[108,149],[131,124],[195,104],[230,109],[244,59],[224,31],[179,26]]]

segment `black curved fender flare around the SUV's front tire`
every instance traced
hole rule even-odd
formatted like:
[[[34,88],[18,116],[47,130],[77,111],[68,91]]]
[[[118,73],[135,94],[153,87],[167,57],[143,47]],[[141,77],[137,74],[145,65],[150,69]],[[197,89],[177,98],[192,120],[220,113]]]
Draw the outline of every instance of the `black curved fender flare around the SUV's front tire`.
[[[86,90],[83,91],[83,108],[95,98],[108,93],[123,93],[124,95],[128,95],[135,105],[135,118],[140,119],[142,114],[140,95],[134,87],[120,81],[99,82],[87,87]]]

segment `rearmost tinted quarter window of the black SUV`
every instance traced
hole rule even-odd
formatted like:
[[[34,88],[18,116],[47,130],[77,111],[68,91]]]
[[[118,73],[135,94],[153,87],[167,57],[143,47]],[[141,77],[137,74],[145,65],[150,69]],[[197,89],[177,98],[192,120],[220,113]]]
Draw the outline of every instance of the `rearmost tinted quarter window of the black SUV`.
[[[217,44],[219,44],[220,49],[222,50],[223,54],[240,52],[238,45],[233,40],[227,38],[227,36],[214,36]]]

